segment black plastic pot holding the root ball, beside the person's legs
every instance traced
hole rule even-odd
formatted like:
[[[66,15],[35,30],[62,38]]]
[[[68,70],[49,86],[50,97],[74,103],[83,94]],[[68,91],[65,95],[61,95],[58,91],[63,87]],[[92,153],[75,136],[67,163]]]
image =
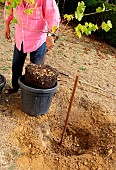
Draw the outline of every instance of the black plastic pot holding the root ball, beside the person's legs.
[[[18,80],[21,89],[21,110],[33,116],[48,112],[58,84],[50,89],[36,89],[25,85],[24,75]]]

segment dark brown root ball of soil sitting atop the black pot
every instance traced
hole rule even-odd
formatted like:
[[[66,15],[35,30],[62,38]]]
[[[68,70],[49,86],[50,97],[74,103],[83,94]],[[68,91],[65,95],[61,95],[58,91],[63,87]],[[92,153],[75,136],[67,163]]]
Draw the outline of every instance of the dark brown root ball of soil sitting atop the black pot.
[[[30,87],[48,89],[55,86],[59,72],[49,65],[30,63],[25,67],[25,83]]]

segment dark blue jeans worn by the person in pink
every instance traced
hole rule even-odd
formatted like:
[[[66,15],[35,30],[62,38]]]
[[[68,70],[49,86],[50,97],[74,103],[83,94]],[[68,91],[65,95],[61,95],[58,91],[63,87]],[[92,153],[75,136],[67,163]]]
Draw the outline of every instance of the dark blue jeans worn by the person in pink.
[[[36,51],[30,52],[30,61],[34,64],[41,64],[46,53],[46,42],[43,43]],[[14,46],[14,54],[12,60],[12,87],[19,89],[18,79],[22,75],[23,66],[27,53],[23,53],[23,44],[21,51]]]

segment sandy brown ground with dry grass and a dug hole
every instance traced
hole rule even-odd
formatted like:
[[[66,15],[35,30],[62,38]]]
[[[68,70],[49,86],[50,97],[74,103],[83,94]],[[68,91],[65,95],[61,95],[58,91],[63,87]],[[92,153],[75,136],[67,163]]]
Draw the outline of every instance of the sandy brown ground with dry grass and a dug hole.
[[[20,90],[11,86],[12,41],[3,35],[0,6],[0,74],[6,85],[0,96],[0,170],[116,169],[116,49],[61,25],[45,64],[56,68],[58,89],[47,114],[21,111]],[[29,63],[29,55],[25,65]],[[76,75],[79,76],[68,127],[59,146]],[[27,106],[28,107],[28,106]]]

